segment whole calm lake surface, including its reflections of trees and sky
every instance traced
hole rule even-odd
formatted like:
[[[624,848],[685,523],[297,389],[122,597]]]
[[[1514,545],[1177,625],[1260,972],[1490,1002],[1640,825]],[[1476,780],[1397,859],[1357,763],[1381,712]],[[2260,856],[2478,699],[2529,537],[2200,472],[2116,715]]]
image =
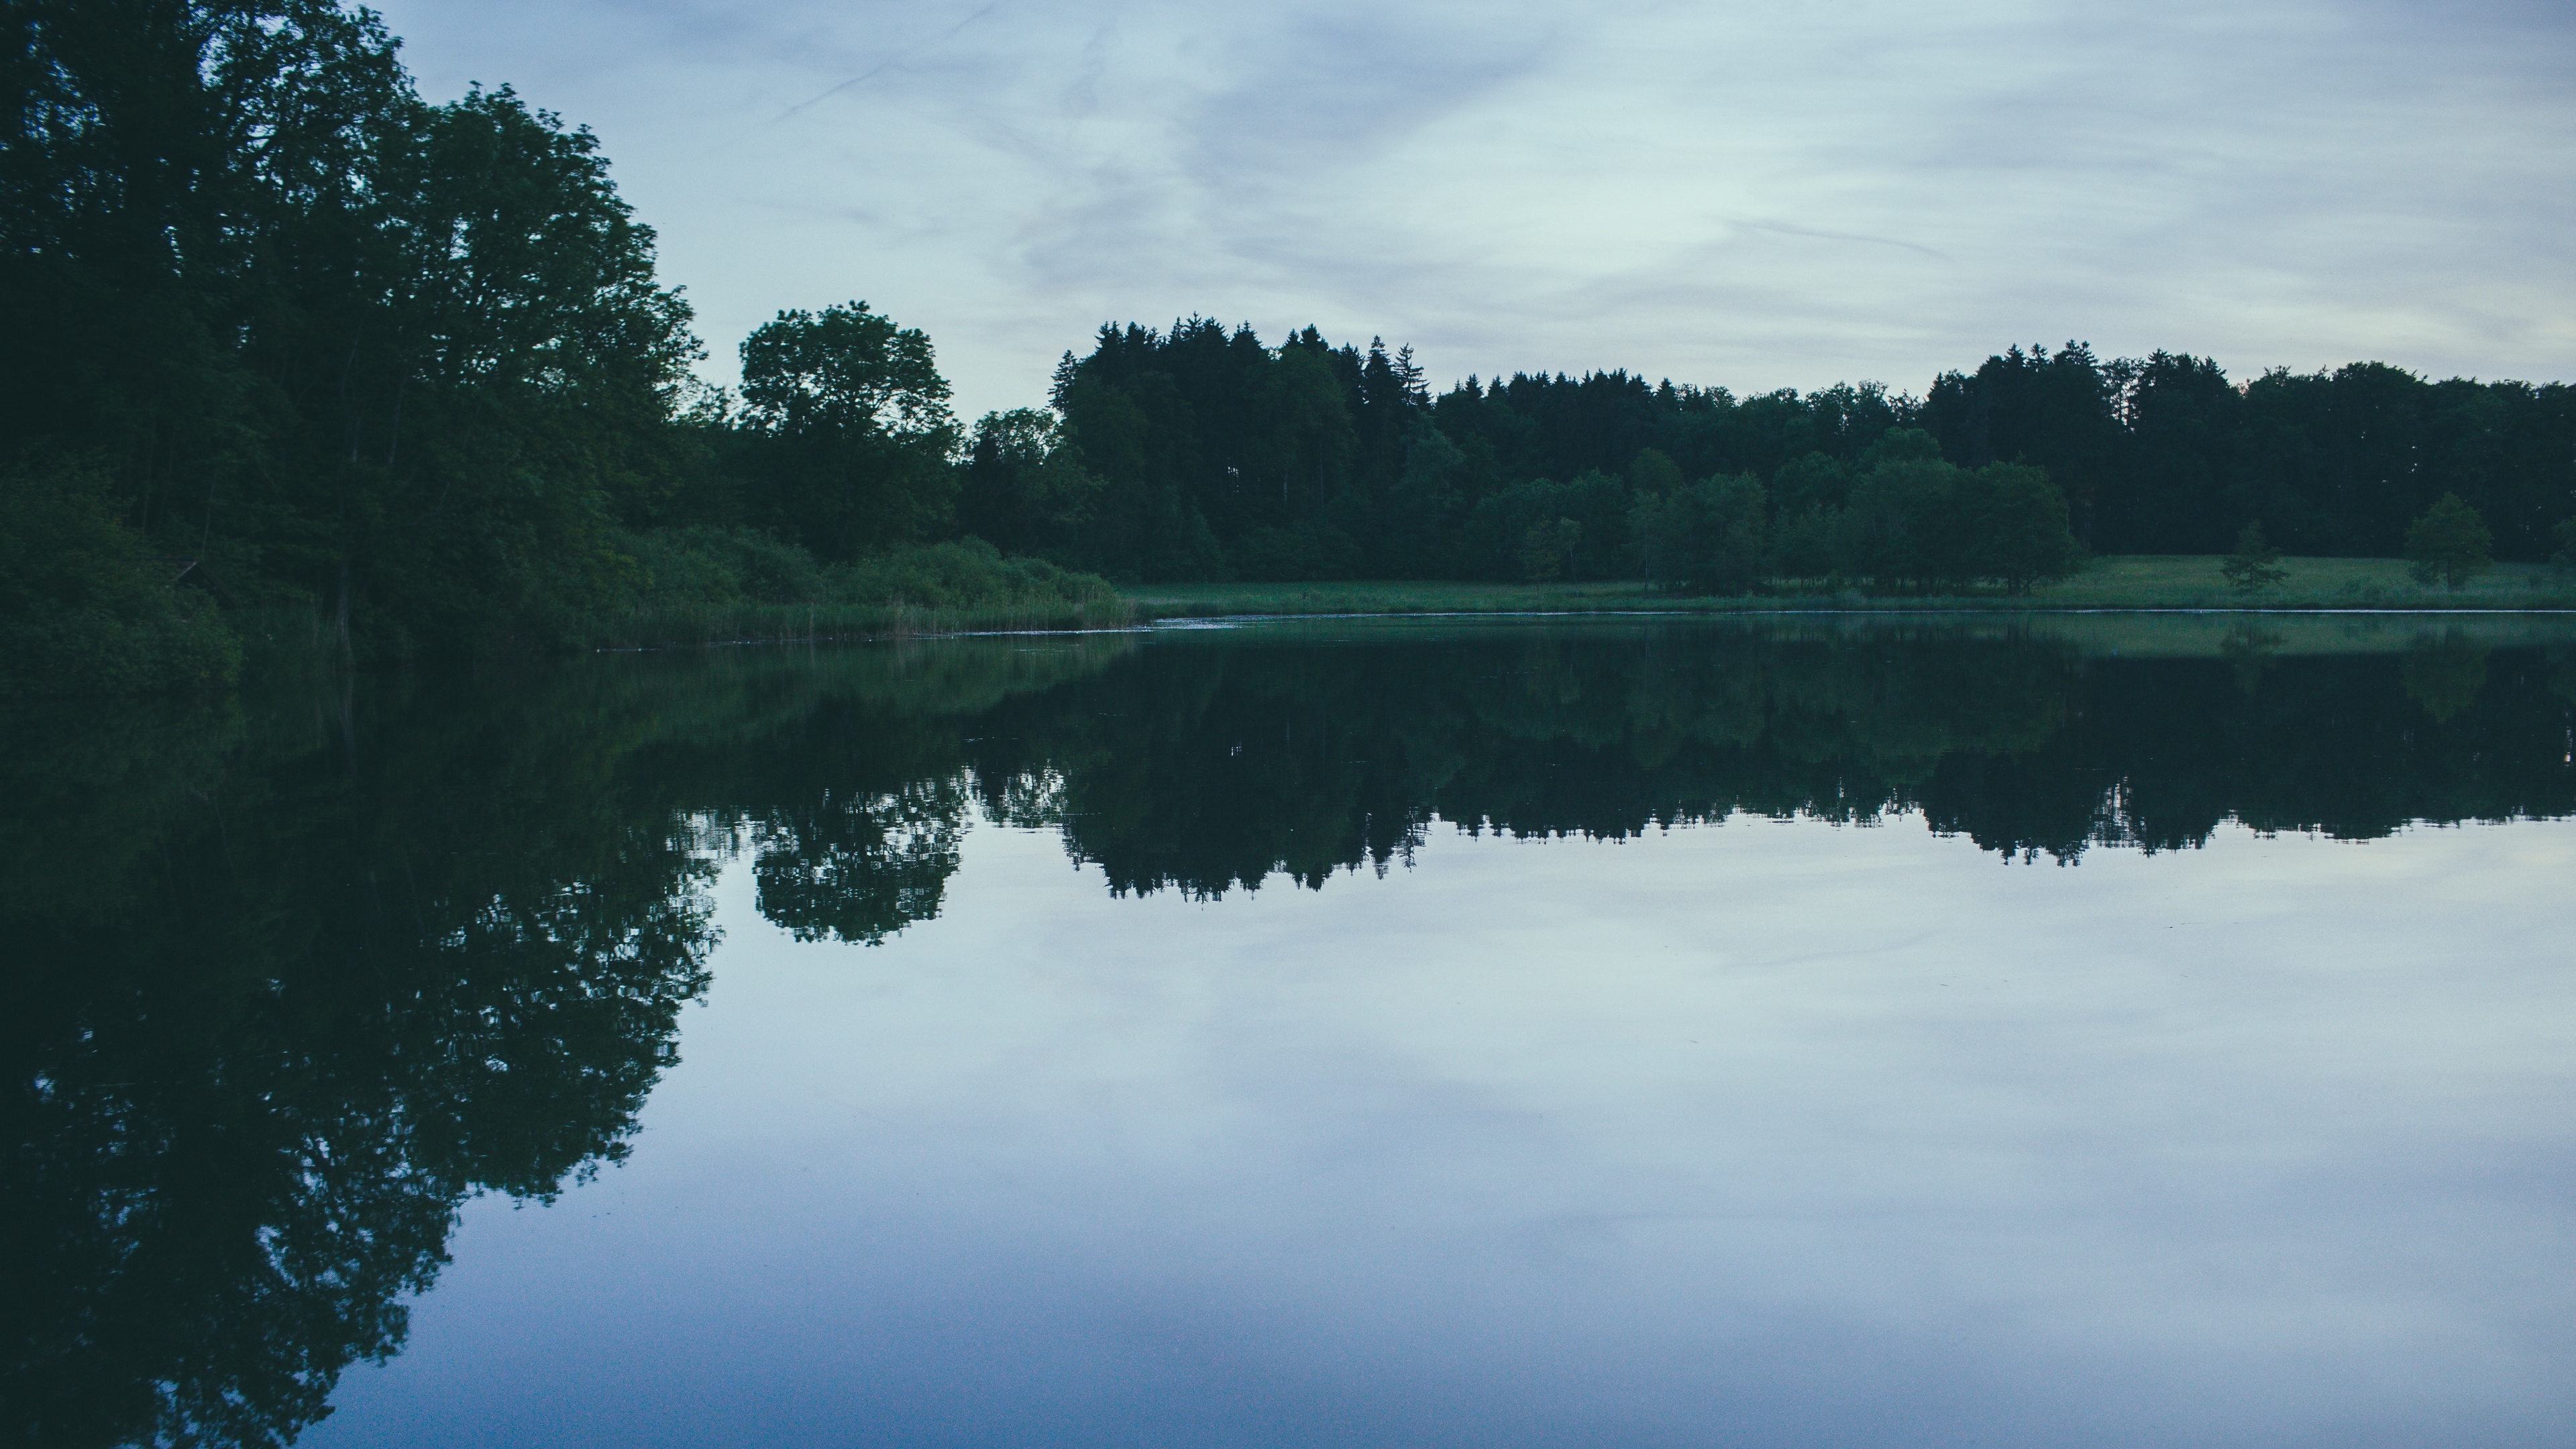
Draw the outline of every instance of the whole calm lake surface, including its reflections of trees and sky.
[[[41,1444],[2566,1444],[2576,629],[8,719]]]

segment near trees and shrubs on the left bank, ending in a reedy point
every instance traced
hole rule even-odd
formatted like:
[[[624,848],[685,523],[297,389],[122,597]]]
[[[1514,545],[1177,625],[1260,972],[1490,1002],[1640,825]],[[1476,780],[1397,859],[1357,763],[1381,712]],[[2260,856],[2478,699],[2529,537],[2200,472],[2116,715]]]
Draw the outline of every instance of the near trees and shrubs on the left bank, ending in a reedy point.
[[[701,384],[598,137],[510,88],[422,101],[374,13],[26,0],[0,31],[0,686],[1105,590],[961,539],[920,333],[786,312],[739,392]]]

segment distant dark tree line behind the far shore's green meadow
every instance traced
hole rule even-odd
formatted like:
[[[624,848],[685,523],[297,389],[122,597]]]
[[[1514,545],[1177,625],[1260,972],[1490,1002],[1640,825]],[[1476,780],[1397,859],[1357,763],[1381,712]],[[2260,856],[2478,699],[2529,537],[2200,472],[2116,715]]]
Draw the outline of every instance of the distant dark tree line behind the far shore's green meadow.
[[[1628,371],[1432,394],[1409,348],[1103,327],[989,415],[971,526],[1118,578],[1762,578],[2027,588],[2094,554],[2391,557],[2460,498],[2504,559],[2576,549],[2576,389],[2007,348],[1922,394],[1736,397]]]

